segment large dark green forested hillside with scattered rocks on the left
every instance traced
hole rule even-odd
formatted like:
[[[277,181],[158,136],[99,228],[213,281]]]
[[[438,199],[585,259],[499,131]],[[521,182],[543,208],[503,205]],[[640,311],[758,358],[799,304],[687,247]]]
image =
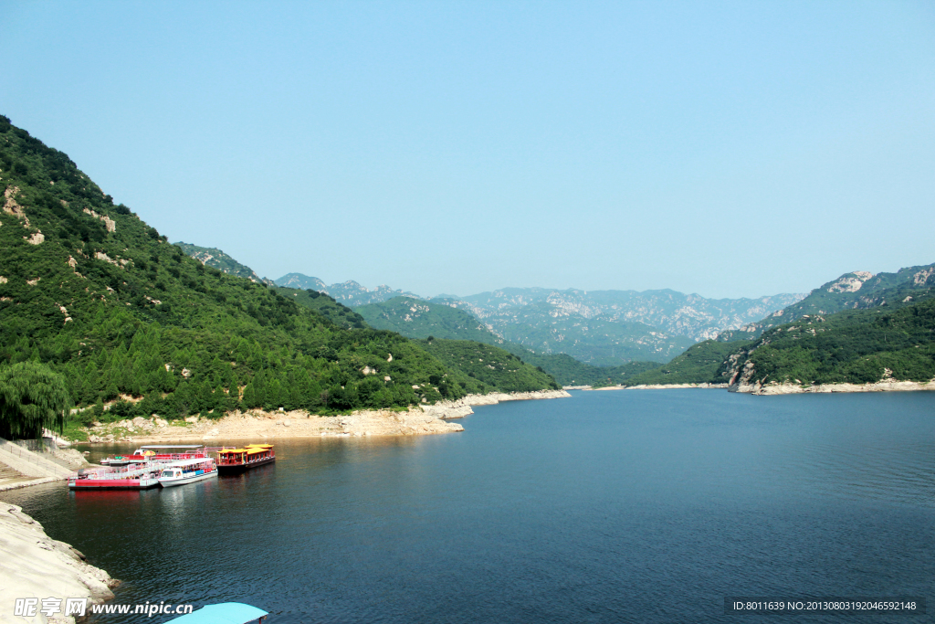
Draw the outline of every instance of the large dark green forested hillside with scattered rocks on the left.
[[[125,398],[108,414],[175,417],[405,406],[482,390],[396,333],[338,327],[188,257],[7,118],[0,189],[0,367],[48,365],[78,405]]]

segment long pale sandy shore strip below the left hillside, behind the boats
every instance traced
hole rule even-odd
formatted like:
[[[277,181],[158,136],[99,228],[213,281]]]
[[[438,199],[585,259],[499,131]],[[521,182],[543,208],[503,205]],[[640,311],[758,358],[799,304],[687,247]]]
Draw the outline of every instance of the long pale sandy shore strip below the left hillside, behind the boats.
[[[158,417],[137,417],[88,428],[91,443],[132,442],[210,442],[211,440],[269,440],[323,436],[410,436],[463,431],[450,422],[473,414],[471,406],[495,405],[510,400],[560,399],[571,395],[564,390],[468,395],[456,401],[393,410],[362,410],[352,414],[321,416],[305,411],[232,412],[223,418],[191,417],[187,422],[167,423]]]

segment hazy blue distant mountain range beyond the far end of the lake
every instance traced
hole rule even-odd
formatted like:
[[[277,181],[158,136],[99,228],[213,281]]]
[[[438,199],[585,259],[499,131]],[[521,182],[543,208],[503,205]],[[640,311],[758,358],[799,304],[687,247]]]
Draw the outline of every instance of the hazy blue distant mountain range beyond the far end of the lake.
[[[191,249],[206,257],[205,248],[193,245]],[[207,252],[214,262],[223,254],[220,250]],[[223,258],[228,264],[236,263],[226,254]],[[804,297],[780,294],[709,299],[668,289],[504,288],[469,297],[434,297],[417,304],[414,301],[426,299],[387,285],[372,290],[353,281],[327,285],[302,273],[288,273],[273,283],[321,292],[352,308],[381,306],[379,310],[359,313],[371,327],[404,336],[488,344],[509,341],[541,356],[567,354],[597,367],[634,361],[668,362],[698,340],[716,338],[725,331],[759,321]],[[391,300],[393,303],[386,305]],[[432,308],[428,303],[444,308]],[[444,312],[445,308],[466,316],[455,319]]]

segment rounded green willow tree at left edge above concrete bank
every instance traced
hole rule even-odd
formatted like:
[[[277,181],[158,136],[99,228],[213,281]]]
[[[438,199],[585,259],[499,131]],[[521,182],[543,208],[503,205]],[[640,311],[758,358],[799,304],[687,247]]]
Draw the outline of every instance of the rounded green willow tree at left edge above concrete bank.
[[[39,438],[43,428],[61,432],[70,407],[65,381],[45,364],[0,369],[0,436]]]

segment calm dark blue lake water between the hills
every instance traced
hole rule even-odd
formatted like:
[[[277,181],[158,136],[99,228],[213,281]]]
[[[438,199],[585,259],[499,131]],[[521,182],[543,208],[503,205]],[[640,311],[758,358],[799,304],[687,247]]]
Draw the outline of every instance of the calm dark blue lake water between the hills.
[[[277,443],[275,465],[214,482],[2,498],[122,579],[116,602],[249,602],[270,624],[758,622],[776,617],[725,597],[935,598],[935,393],[573,395],[475,408],[463,433]]]

